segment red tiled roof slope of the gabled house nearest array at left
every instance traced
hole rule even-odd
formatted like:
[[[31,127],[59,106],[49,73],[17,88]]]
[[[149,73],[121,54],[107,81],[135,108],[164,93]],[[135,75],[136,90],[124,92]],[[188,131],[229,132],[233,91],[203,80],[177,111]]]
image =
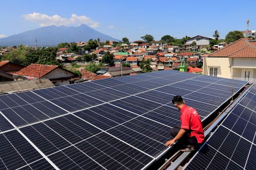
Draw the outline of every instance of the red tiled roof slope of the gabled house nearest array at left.
[[[27,76],[27,77],[35,77],[39,78],[58,68],[57,65],[45,65],[45,64],[30,64],[29,66],[17,71],[15,75]]]

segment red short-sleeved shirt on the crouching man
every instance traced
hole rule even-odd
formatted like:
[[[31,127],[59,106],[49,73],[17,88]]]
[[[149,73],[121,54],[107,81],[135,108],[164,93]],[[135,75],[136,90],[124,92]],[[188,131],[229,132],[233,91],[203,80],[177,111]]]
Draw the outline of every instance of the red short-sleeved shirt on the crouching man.
[[[180,110],[181,128],[189,129],[191,133],[188,133],[188,137],[196,136],[198,143],[203,143],[204,132],[201,119],[196,109],[184,106]]]

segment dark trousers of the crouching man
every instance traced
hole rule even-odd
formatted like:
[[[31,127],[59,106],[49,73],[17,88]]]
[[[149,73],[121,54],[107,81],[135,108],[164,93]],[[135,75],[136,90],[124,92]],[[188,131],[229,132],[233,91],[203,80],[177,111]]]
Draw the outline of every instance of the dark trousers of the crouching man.
[[[175,137],[180,131],[181,124],[176,124],[171,128],[171,135]],[[196,136],[188,137],[189,130],[186,130],[186,133],[179,139],[181,145],[197,145]]]

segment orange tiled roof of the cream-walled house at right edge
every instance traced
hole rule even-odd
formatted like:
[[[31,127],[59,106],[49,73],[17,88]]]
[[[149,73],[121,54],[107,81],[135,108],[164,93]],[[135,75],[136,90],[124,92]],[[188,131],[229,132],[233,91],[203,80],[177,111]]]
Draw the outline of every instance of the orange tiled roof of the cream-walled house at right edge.
[[[241,38],[212,53],[209,57],[256,58],[256,46],[246,38]]]

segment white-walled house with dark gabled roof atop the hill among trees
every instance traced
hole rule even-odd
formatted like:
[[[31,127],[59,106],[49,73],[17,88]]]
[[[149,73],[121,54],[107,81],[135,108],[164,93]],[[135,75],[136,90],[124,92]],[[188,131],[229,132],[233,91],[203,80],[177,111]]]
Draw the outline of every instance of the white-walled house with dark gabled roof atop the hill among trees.
[[[186,41],[186,44],[191,45],[195,42],[198,49],[206,48],[207,45],[210,45],[210,40],[213,39],[211,37],[204,37],[201,35],[192,37]]]

